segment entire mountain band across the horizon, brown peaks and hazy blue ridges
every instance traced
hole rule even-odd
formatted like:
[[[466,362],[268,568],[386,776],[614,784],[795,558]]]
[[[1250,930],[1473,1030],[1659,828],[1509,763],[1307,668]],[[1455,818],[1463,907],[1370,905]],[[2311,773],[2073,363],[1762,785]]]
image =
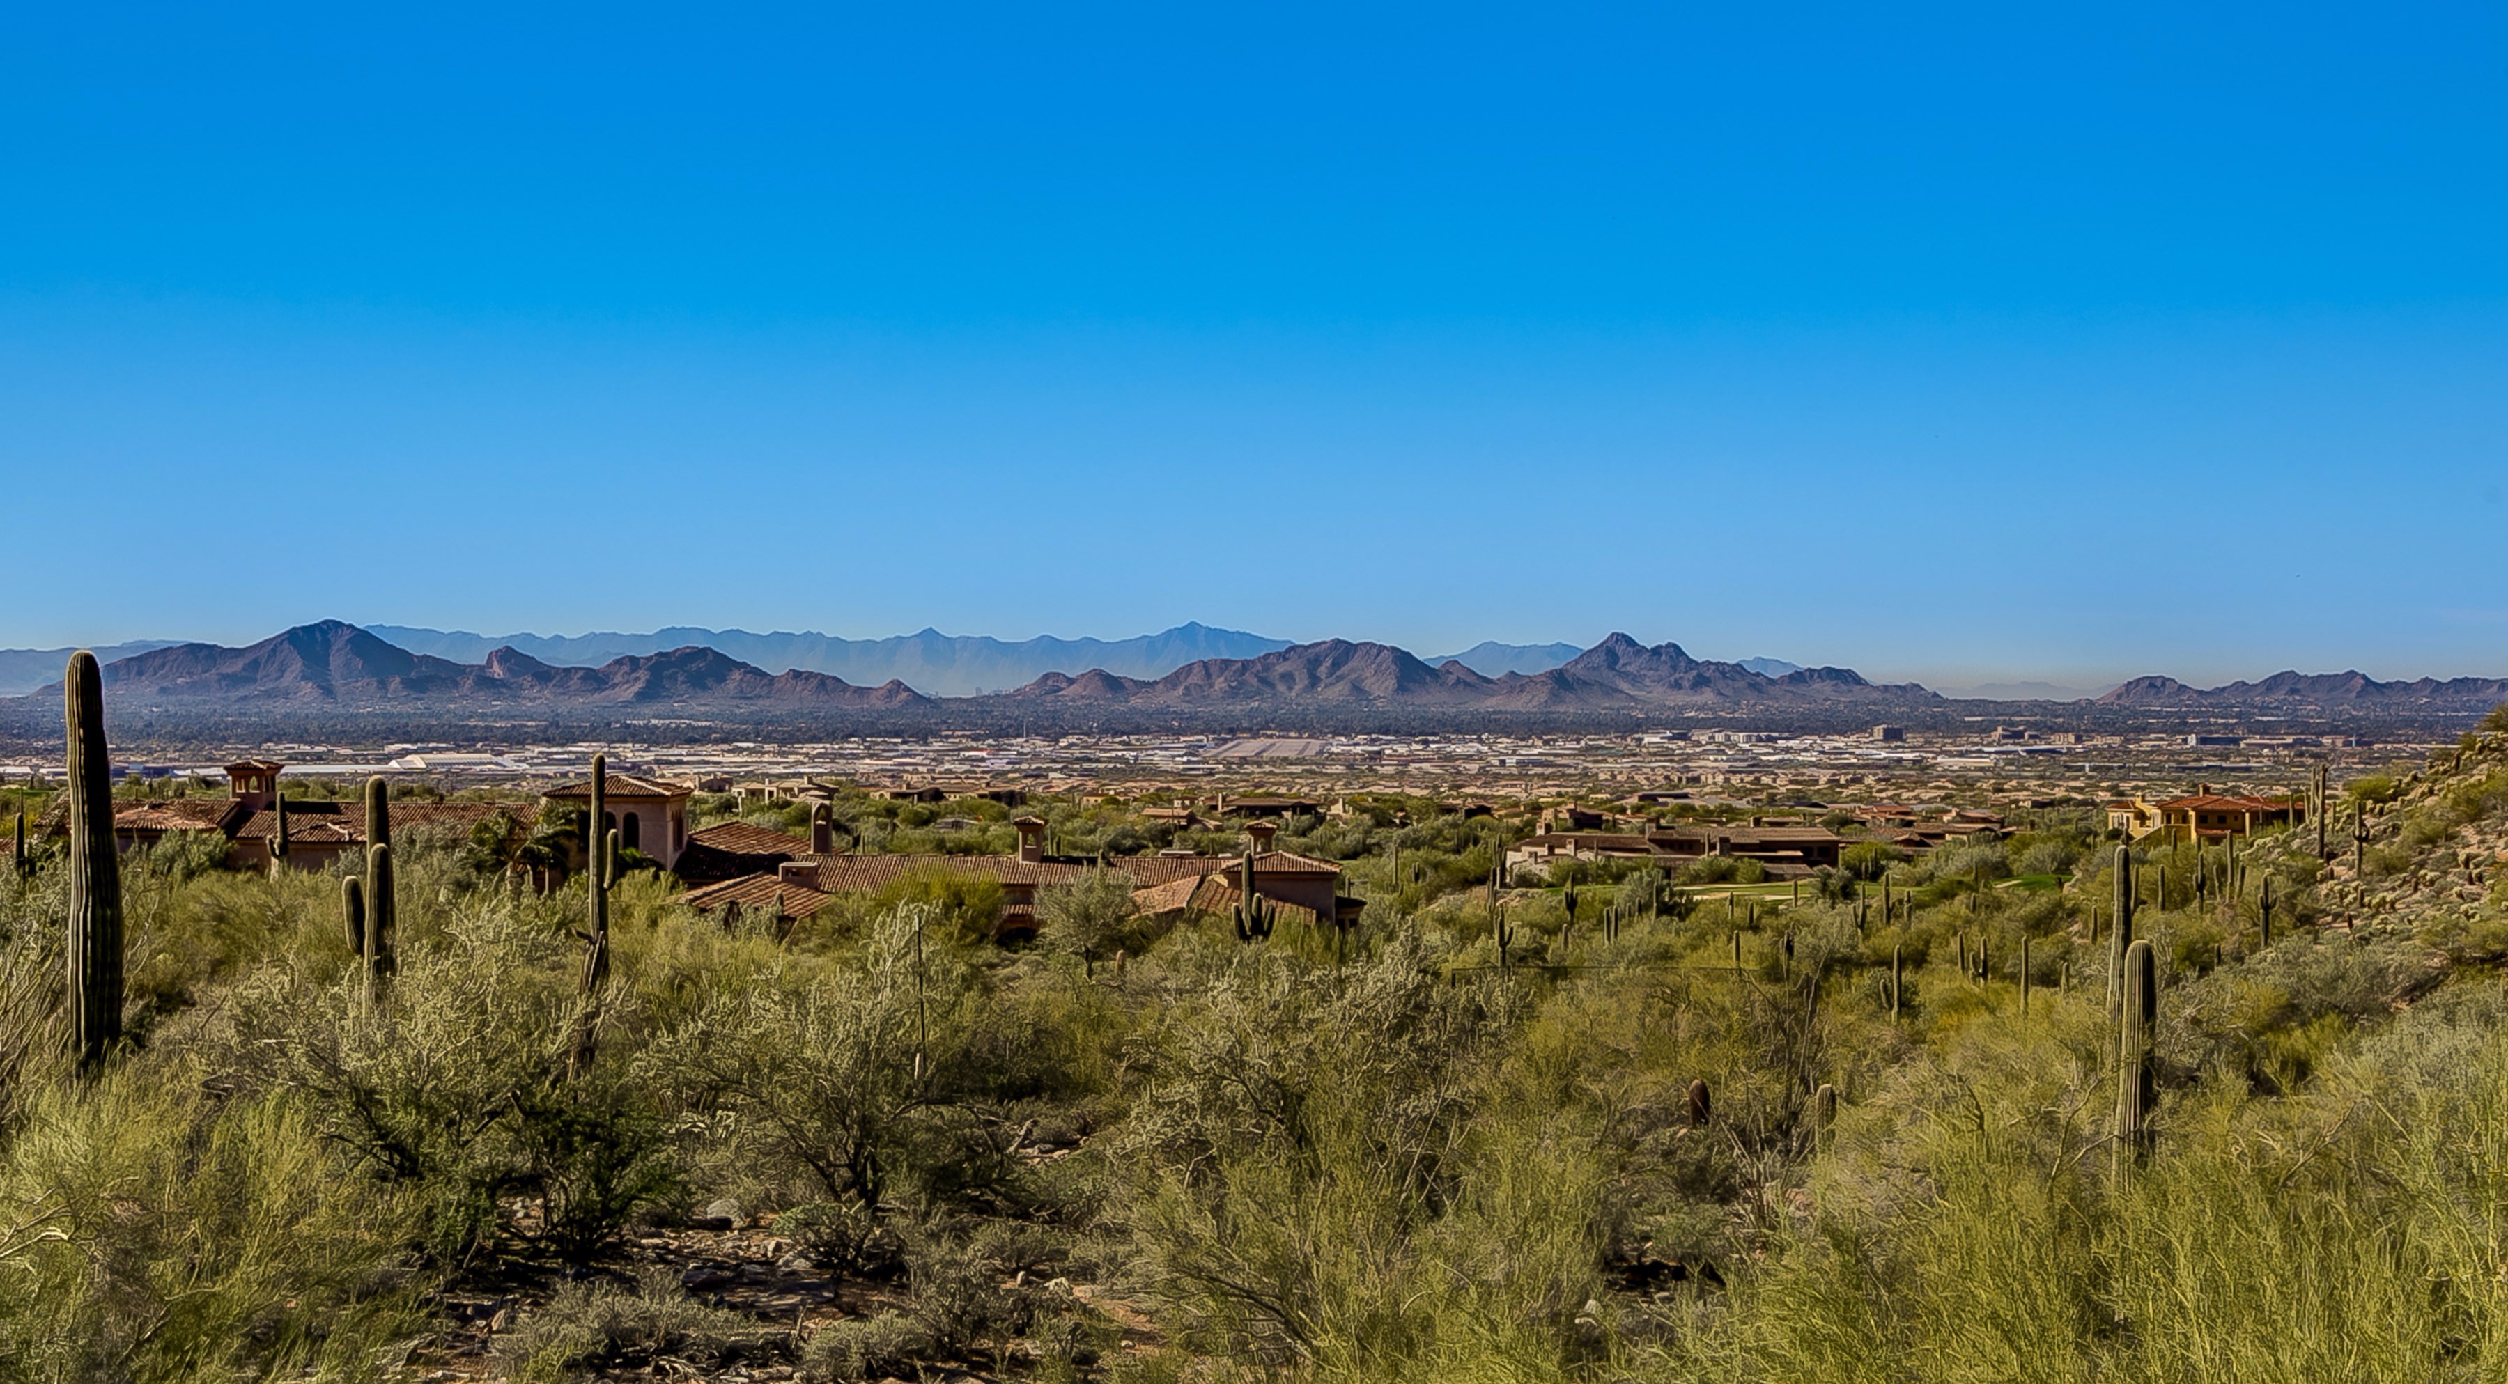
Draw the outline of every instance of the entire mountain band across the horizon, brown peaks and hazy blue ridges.
[[[396,637],[386,637],[396,634]],[[667,637],[687,637],[652,647]],[[529,642],[532,647],[524,647]],[[604,644],[607,642],[607,644]],[[419,647],[411,647],[419,644]],[[1916,684],[1873,684],[1841,667],[1783,659],[1693,659],[1680,644],[1640,644],[1610,634],[1593,649],[1573,644],[1485,642],[1462,654],[1420,659],[1377,642],[1287,644],[1236,629],[1179,624],[1139,639],[951,637],[833,639],[825,634],[747,634],[662,629],[655,634],[517,637],[482,647],[477,634],[406,627],[361,629],[339,619],[303,624],[228,649],[221,644],[133,642],[98,649],[105,682],[125,705],[178,712],[329,707],[436,715],[635,712],[680,707],[730,717],[810,717],[818,712],[898,712],[1088,720],[1106,710],[1387,710],[1387,712],[1643,712],[1823,707],[1846,715],[1944,707]],[[597,664],[589,659],[612,644]],[[722,644],[730,644],[722,647]],[[757,652],[745,659],[732,649]],[[557,657],[547,657],[557,654]],[[68,649],[0,652],[0,695],[58,695]],[[818,664],[818,667],[808,667]],[[782,667],[782,672],[767,672]],[[830,667],[850,669],[830,672]],[[910,677],[908,677],[910,674]],[[923,679],[918,684],[915,679]],[[50,687],[45,687],[50,682]],[[958,687],[963,692],[933,692]],[[2092,710],[2270,710],[2275,715],[2478,715],[2508,702],[2508,679],[2455,677],[2378,682],[2360,672],[2280,672],[2260,682],[2189,687],[2137,677],[2087,700],[2049,684],[1969,687],[1959,695],[1999,702],[2069,702]],[[58,712],[58,707],[55,707]]]

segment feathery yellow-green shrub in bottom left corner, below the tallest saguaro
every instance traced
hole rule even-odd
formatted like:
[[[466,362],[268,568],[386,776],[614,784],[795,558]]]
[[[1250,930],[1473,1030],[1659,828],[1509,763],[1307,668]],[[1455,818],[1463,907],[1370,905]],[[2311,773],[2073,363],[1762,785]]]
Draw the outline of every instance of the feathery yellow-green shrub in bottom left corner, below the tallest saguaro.
[[[33,1098],[0,1156],[0,1361],[25,1379],[379,1379],[409,1203],[283,1096],[155,1066]]]

